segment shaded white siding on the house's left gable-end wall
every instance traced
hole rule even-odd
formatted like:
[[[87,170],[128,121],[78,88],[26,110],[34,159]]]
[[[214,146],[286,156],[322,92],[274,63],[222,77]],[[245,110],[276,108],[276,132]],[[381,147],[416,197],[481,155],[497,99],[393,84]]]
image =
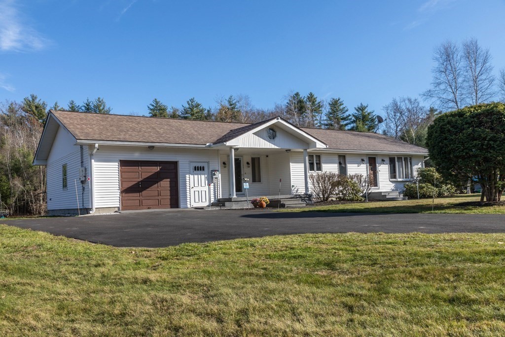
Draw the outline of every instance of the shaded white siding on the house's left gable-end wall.
[[[53,148],[49,153],[46,165],[47,179],[47,209],[66,210],[79,207],[89,208],[89,184],[81,184],[79,167],[81,166],[80,147],[73,145],[75,139],[64,128],[60,127],[56,134]],[[88,148],[83,147],[84,167],[88,169]],[[63,165],[67,165],[67,188],[63,188]],[[77,196],[75,186],[77,183]],[[82,187],[84,186],[84,197]],[[84,204],[83,204],[84,201]]]

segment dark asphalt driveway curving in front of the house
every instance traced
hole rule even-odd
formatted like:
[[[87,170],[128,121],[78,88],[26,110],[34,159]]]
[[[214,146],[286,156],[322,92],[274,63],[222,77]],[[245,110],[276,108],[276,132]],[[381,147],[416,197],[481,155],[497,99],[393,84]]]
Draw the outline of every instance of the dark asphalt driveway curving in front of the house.
[[[277,213],[268,209],[157,210],[0,223],[117,247],[166,247],[300,233],[505,233],[505,215],[499,214]]]

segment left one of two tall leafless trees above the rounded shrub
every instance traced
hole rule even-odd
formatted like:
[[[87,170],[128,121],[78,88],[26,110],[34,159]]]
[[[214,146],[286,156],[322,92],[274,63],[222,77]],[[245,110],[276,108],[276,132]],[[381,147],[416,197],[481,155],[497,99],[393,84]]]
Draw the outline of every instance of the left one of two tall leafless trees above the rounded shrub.
[[[422,95],[444,111],[462,108],[464,64],[460,48],[452,41],[445,41],[435,48],[433,61],[431,89]]]

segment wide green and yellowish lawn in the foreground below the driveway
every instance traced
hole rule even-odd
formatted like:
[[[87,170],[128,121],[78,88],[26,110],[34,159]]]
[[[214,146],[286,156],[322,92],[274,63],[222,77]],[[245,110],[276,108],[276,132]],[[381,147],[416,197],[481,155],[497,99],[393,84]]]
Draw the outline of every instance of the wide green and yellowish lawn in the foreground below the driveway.
[[[505,335],[504,234],[119,249],[0,225],[0,335]]]

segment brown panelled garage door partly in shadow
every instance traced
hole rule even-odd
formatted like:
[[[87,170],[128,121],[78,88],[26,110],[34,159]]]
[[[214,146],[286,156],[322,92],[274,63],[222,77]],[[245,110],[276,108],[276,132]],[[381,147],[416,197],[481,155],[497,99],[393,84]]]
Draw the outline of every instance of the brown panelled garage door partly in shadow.
[[[119,162],[121,209],[146,210],[179,207],[177,162]]]

